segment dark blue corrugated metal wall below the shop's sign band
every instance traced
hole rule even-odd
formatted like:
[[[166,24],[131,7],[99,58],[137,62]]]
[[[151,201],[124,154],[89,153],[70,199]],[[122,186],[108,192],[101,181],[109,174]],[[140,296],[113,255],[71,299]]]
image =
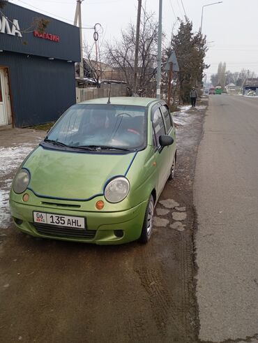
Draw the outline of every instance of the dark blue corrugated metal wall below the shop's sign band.
[[[8,67],[16,127],[52,122],[76,102],[73,63],[0,52]]]

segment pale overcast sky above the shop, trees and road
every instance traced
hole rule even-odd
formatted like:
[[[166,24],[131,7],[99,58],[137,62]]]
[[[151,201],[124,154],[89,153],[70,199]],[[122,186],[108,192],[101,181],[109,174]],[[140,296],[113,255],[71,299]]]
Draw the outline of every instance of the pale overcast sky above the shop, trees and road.
[[[17,5],[36,10],[73,23],[76,0],[9,0]],[[136,23],[137,0],[84,0],[82,22],[84,27],[93,27],[99,22],[103,27],[100,41],[119,39],[121,29],[129,22]],[[202,6],[216,0],[163,0],[162,30],[170,38],[176,17],[183,19],[184,10],[192,21],[193,30],[201,24]],[[155,13],[158,20],[159,0],[142,0],[146,10]],[[206,34],[209,50],[206,63],[211,64],[205,73],[210,76],[225,61],[227,70],[250,69],[258,74],[258,0],[224,0],[204,7],[202,33]],[[176,26],[176,28],[178,25]],[[175,31],[176,32],[176,29]],[[84,39],[91,44],[93,30],[84,29]],[[166,42],[163,42],[166,43]]]

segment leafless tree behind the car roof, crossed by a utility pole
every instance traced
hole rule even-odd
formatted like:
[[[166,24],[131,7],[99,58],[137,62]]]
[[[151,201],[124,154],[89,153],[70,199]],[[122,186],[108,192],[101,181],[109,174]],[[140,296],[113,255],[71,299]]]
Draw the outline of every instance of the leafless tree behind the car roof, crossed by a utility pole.
[[[116,70],[116,75],[123,78],[128,85],[129,94],[132,94],[134,85],[135,63],[135,25],[129,24],[126,31],[121,31],[121,40],[107,43],[105,59]],[[137,68],[137,94],[151,96],[155,87],[154,76],[157,70],[156,50],[158,43],[158,22],[153,13],[142,10],[141,26],[139,30],[139,54]]]

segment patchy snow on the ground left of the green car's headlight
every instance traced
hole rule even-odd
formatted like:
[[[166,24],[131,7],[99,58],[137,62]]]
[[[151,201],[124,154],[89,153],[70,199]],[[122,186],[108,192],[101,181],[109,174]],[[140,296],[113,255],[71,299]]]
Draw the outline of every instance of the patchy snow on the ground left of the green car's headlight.
[[[0,147],[0,229],[10,225],[8,201],[15,170],[34,147],[29,143],[17,147]]]

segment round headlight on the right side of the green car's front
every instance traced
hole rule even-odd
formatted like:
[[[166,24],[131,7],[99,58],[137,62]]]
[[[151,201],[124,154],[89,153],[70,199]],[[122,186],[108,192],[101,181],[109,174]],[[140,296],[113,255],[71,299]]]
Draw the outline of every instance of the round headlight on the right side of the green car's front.
[[[105,187],[104,196],[109,203],[119,203],[128,195],[130,183],[126,177],[116,177]]]

